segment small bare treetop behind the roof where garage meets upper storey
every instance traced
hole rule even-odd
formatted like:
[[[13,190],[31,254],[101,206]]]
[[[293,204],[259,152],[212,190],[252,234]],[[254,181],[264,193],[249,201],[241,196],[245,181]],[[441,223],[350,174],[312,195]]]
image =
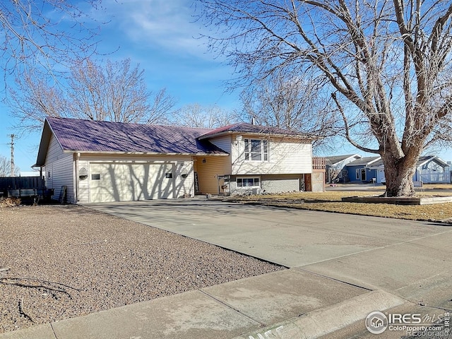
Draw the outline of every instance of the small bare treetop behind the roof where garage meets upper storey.
[[[205,127],[212,129],[238,121],[237,114],[227,112],[217,105],[203,106],[189,104],[174,114],[173,123],[182,126]]]

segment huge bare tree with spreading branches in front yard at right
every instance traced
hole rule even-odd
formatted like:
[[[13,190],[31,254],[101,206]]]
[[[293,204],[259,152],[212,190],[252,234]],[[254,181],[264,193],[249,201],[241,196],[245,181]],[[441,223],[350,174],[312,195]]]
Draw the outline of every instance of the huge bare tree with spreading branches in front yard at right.
[[[198,2],[241,75],[232,87],[280,69],[317,78],[345,138],[381,155],[388,196],[415,194],[422,150],[451,141],[451,1]]]

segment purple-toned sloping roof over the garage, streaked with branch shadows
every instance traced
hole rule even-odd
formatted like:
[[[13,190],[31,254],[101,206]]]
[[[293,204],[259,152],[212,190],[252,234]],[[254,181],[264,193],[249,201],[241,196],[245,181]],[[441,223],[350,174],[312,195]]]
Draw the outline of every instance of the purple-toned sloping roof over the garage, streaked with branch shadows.
[[[208,141],[197,140],[210,129],[64,118],[47,118],[47,121],[63,150],[227,154]]]

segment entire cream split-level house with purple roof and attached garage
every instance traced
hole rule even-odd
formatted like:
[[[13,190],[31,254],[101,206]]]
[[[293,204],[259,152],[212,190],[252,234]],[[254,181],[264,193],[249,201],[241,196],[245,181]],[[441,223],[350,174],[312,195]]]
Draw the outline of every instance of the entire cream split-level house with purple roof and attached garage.
[[[309,189],[312,136],[274,127],[220,129],[47,118],[37,167],[69,203]],[[321,181],[324,181],[323,176]]]

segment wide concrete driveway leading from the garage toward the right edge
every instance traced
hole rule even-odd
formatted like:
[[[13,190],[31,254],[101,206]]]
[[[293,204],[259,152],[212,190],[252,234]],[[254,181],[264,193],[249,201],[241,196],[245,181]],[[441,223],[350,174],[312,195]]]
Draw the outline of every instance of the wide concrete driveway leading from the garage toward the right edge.
[[[452,309],[452,225],[189,199],[87,207]]]

